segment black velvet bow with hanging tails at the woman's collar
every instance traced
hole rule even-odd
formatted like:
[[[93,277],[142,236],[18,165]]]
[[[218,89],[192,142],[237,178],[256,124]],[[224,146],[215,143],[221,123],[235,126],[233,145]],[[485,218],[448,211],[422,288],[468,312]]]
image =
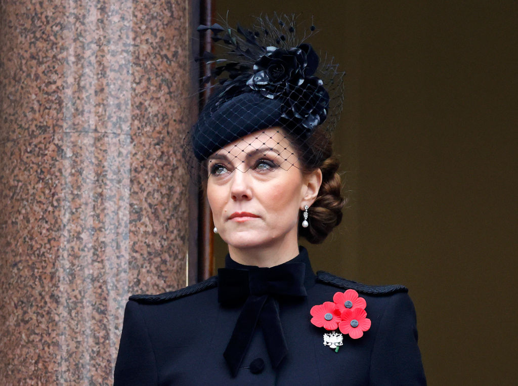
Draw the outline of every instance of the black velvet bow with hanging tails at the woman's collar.
[[[261,323],[272,366],[287,354],[279,316],[278,296],[307,296],[304,263],[287,263],[271,268],[218,270],[218,300],[225,306],[244,303],[234,331],[223,353],[235,377],[247,352],[257,322]]]

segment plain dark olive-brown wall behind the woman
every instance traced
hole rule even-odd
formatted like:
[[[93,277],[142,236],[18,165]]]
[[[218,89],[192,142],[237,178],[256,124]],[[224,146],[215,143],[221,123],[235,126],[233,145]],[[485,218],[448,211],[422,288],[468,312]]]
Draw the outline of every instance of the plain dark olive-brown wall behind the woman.
[[[314,46],[347,72],[335,151],[351,201],[310,248],[314,268],[410,288],[429,384],[514,384],[515,3],[279,4],[216,9],[244,25],[274,10],[313,15]]]

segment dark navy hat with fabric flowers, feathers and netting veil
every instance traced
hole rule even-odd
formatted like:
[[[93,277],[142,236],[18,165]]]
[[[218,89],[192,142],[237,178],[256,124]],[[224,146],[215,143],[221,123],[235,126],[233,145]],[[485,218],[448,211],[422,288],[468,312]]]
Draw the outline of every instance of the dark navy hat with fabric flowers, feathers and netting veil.
[[[259,134],[272,127],[278,130],[271,140],[288,140],[293,149],[281,154],[283,168],[301,158],[306,167],[323,161],[341,112],[343,73],[311,46],[315,27],[297,25],[296,19],[274,14],[256,18],[250,28],[223,22],[198,27],[223,53],[198,58],[211,66],[203,79],[211,97],[184,140],[184,158],[196,181],[198,173],[207,175],[200,163],[223,147],[227,158],[235,159],[237,152],[227,145],[239,138],[256,133],[258,144],[269,146]]]

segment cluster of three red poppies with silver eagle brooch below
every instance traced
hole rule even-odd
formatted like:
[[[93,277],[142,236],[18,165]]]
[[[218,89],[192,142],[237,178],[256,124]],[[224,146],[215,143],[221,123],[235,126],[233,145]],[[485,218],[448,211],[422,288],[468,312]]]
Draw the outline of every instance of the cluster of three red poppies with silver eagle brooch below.
[[[365,307],[367,303],[354,290],[337,292],[333,302],[324,302],[311,307],[311,323],[317,327],[324,327],[330,333],[324,334],[324,346],[329,346],[338,352],[343,345],[343,335],[353,339],[363,336],[370,328],[370,319],[367,318]],[[340,330],[337,332],[336,330]],[[342,335],[343,334],[343,335]]]

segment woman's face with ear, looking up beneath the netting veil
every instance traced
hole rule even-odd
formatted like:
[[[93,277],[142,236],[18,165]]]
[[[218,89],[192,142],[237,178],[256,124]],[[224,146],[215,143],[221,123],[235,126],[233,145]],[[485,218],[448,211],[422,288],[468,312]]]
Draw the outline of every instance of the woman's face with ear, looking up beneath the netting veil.
[[[214,225],[237,249],[296,243],[299,210],[312,204],[320,187],[302,173],[280,128],[252,133],[215,152],[208,173]]]

